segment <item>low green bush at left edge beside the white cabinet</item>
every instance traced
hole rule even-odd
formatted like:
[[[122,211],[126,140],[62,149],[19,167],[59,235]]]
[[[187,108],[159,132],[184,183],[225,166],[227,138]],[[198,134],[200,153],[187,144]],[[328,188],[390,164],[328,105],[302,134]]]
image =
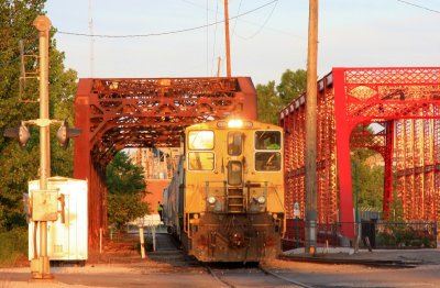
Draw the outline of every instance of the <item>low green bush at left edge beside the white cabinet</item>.
[[[28,229],[16,228],[0,232],[0,266],[13,266],[28,255]]]

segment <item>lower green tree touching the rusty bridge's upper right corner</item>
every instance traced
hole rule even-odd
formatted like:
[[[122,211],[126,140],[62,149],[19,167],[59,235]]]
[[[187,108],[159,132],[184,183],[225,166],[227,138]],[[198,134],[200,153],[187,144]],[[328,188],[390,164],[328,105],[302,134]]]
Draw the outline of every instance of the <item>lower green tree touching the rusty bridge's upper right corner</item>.
[[[266,123],[278,123],[280,99],[275,91],[275,81],[256,86],[256,107],[258,120]]]

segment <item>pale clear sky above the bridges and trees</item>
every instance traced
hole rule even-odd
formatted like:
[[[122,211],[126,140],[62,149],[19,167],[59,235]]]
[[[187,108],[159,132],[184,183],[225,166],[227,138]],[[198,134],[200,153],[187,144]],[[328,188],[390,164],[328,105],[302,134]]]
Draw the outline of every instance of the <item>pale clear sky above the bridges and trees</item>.
[[[440,0],[319,2],[318,77],[332,67],[440,66]],[[286,69],[306,69],[308,4],[229,0],[232,76],[278,84]],[[218,57],[226,76],[221,0],[47,0],[45,11],[79,78],[211,77]]]

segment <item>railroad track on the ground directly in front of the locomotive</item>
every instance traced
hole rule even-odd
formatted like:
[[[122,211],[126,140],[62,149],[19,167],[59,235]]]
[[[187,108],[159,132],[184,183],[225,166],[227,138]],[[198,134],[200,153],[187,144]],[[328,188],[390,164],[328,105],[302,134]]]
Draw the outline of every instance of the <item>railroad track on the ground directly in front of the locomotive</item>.
[[[300,288],[312,288],[314,286],[299,283],[292,278],[278,275],[268,268],[253,265],[251,267],[246,265],[237,265],[231,268],[231,264],[228,264],[228,268],[218,267],[219,264],[206,264],[208,273],[219,283],[222,287],[240,287],[240,286],[252,286],[252,287],[300,287]]]

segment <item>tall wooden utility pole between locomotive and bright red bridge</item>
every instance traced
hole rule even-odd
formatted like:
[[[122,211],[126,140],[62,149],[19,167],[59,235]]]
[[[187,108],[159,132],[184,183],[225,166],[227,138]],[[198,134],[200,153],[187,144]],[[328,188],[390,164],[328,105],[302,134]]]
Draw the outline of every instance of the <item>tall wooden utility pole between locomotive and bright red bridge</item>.
[[[317,247],[317,58],[318,0],[309,0],[306,98],[306,253]]]

